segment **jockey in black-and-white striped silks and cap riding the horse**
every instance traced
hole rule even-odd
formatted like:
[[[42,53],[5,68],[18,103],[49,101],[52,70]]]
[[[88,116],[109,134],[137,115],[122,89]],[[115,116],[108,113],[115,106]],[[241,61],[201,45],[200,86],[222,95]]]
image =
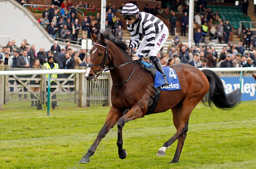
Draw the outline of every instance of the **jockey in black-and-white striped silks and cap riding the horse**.
[[[139,60],[148,55],[149,59],[155,64],[156,69],[163,74],[165,85],[169,85],[164,74],[162,65],[157,58],[157,53],[164,45],[169,36],[169,30],[164,22],[145,12],[139,12],[136,5],[132,3],[123,6],[122,14],[126,20],[127,29],[131,34],[131,45],[129,49],[133,49],[139,43],[140,34],[145,35],[142,39],[136,55],[132,60]]]

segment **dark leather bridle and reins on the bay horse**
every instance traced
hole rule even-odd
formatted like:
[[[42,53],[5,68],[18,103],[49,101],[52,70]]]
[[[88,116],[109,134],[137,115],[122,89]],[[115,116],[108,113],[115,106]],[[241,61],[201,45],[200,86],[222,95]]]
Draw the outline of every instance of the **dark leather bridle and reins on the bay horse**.
[[[105,67],[106,67],[106,62],[107,62],[107,56],[109,57],[109,62],[111,62],[110,55],[108,54],[108,41],[107,41],[107,39],[105,39],[105,41],[106,41],[106,46],[103,46],[103,45],[98,44],[98,43],[94,43],[94,44],[93,44],[93,45],[98,45],[98,46],[101,46],[101,47],[105,48],[105,55],[104,55],[104,58],[103,58],[101,64],[100,64],[100,65],[96,65],[96,64],[89,63],[89,65],[88,65],[88,67],[90,67],[90,68],[94,71],[94,73],[95,73],[96,75],[98,75],[99,73],[104,73],[105,71],[108,71],[108,70],[113,70],[113,69],[115,69],[115,68],[118,68],[118,67],[121,67],[121,66],[124,66],[124,65],[128,65],[128,64],[130,64],[130,63],[135,63],[133,72],[131,73],[131,75],[129,76],[129,78],[128,78],[125,82],[123,82],[123,83],[121,83],[121,84],[114,84],[114,83],[113,83],[114,87],[116,87],[116,86],[118,86],[118,85],[122,85],[122,84],[126,83],[126,82],[130,79],[130,77],[133,75],[133,73],[134,73],[134,71],[135,71],[135,68],[136,68],[136,60],[132,60],[132,61],[126,62],[126,63],[124,63],[124,64],[121,64],[121,65],[118,65],[118,66],[115,66],[115,67],[109,67],[109,66],[108,66],[108,69],[105,69]],[[92,66],[101,66],[102,69],[101,69],[100,72],[96,72],[96,71],[92,68]],[[114,88],[114,87],[113,87],[113,88]]]

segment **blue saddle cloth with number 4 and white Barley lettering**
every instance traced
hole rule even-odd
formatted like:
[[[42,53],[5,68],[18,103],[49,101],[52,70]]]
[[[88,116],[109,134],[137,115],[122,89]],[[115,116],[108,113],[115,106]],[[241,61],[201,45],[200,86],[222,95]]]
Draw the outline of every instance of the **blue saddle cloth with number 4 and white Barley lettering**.
[[[140,61],[144,66],[152,67],[149,63],[141,60]],[[169,82],[169,86],[163,86],[164,84],[164,78],[162,73],[156,71],[155,73],[155,82],[154,85],[156,87],[161,86],[161,90],[178,90],[180,89],[180,81],[176,74],[176,71],[172,69],[171,67],[163,67],[165,76],[167,77],[167,81]]]

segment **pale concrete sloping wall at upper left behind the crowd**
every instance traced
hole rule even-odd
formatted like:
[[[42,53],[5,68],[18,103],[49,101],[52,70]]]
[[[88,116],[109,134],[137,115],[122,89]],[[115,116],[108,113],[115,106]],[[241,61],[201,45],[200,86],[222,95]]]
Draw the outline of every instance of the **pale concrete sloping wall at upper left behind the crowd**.
[[[53,45],[52,37],[20,3],[14,0],[0,0],[0,16],[0,44],[2,46],[6,46],[8,40],[12,39],[16,40],[18,47],[23,39],[27,39],[27,43],[36,46],[37,52],[40,48],[49,50]],[[59,46],[64,47],[66,43],[59,42]],[[71,46],[73,49],[80,48],[77,45]]]

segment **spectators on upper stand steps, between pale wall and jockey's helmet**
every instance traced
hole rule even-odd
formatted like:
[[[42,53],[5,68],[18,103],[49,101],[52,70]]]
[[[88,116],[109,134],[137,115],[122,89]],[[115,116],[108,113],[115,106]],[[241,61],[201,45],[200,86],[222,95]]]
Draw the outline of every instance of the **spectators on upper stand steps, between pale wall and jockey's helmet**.
[[[64,0],[62,4],[59,4],[59,1],[53,2],[50,8],[47,6],[45,7],[42,18],[37,21],[54,39],[61,38],[66,41],[77,42],[80,30],[82,32],[82,36],[85,36],[83,39],[91,38],[91,32],[97,33],[101,29],[100,13],[98,12],[96,14],[94,20],[92,19],[92,15],[83,18],[83,21],[80,21],[81,24],[79,24],[76,8],[95,8],[95,6],[91,6],[87,2],[83,5],[82,1],[77,5],[73,5],[71,0],[69,0],[69,3]],[[118,39],[122,39],[123,23],[120,21],[120,18],[115,15],[115,12],[117,12],[115,5],[108,3],[106,7],[105,28],[112,29],[113,35]]]

